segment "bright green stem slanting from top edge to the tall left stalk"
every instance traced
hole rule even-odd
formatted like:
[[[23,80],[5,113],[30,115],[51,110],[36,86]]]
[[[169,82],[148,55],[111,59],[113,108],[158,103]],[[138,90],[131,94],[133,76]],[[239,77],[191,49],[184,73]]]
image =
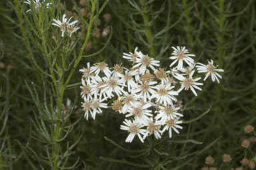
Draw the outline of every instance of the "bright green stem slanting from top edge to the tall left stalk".
[[[77,65],[79,64],[79,62],[81,61],[82,55],[83,55],[83,51],[85,51],[85,46],[87,45],[88,41],[89,41],[89,37],[91,34],[91,28],[93,27],[93,19],[94,19],[94,12],[96,9],[96,1],[94,0],[92,3],[92,7],[91,7],[91,18],[90,18],[90,22],[89,22],[89,27],[87,29],[87,34],[86,34],[86,38],[85,38],[85,42],[83,43],[83,46],[81,47],[80,51],[79,51],[79,55],[77,57],[77,59],[75,60],[75,64],[73,66],[73,69],[71,70],[71,72],[69,73],[69,77],[67,77],[67,81],[65,82],[65,87],[69,84],[69,81],[71,79],[71,77],[73,76],[73,73],[75,71],[75,69],[77,68]]]

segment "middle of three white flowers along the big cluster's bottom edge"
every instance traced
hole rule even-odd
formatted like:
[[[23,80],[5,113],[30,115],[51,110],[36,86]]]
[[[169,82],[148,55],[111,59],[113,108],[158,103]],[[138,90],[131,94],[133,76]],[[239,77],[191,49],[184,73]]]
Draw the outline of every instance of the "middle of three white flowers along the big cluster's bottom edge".
[[[153,118],[150,117],[149,121],[147,122],[147,124],[145,125],[147,126],[147,130],[143,136],[143,140],[149,136],[152,135],[154,133],[155,138],[160,139],[161,138],[161,122],[160,121],[153,121]]]

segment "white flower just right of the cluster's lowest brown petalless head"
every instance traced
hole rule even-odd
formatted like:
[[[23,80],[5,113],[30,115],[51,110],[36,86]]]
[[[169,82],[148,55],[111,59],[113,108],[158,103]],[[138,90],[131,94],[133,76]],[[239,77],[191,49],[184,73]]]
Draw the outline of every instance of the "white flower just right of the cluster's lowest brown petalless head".
[[[142,98],[142,96],[131,91],[131,93],[125,92],[125,95],[120,98],[123,100],[122,113],[125,114],[132,105],[135,105],[135,103]]]

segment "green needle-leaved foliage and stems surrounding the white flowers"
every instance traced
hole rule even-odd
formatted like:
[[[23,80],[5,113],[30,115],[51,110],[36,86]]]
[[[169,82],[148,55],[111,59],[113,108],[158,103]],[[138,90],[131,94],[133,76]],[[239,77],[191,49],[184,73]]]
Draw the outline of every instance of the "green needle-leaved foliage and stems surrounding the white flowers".
[[[245,125],[256,128],[255,5],[46,0],[37,10],[23,0],[0,1],[0,169],[201,169],[208,155],[215,158],[211,167],[231,169],[244,157],[253,160],[255,143],[245,149],[241,142],[256,135],[243,132]],[[51,25],[64,13],[79,19],[71,38]],[[225,70],[219,85],[205,83],[198,97],[183,95],[179,135],[128,144],[119,129],[123,117],[111,109],[96,120],[83,118],[79,69],[87,62],[127,66],[123,52],[139,47],[168,67],[177,45]],[[224,153],[230,163],[223,163]]]

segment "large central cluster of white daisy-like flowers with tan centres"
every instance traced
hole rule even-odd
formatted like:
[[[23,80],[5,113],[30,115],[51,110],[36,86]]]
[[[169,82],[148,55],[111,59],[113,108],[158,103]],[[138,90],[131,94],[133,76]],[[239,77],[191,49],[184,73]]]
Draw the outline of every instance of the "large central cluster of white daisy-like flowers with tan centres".
[[[80,69],[83,73],[81,79],[82,107],[85,118],[89,115],[95,119],[97,113],[102,113],[101,108],[107,108],[105,101],[115,97],[111,107],[125,115],[120,129],[128,131],[126,142],[133,141],[137,135],[141,142],[154,134],[155,138],[161,138],[165,132],[179,133],[181,127],[181,101],[177,98],[185,89],[197,96],[196,89],[203,83],[198,81],[201,77],[195,77],[198,73],[205,73],[205,79],[211,76],[212,80],[221,76],[213,61],[208,65],[195,63],[185,47],[173,47],[174,51],[170,59],[174,59],[170,69],[159,67],[160,61],[144,55],[136,48],[133,53],[123,53],[123,58],[132,62],[132,67],[127,69],[122,65],[109,68],[107,63],[100,62],[93,66],[87,63],[87,67]],[[185,63],[183,63],[185,61]],[[174,66],[177,63],[177,66]],[[196,65],[196,66],[195,66]],[[204,79],[204,80],[205,80]]]

